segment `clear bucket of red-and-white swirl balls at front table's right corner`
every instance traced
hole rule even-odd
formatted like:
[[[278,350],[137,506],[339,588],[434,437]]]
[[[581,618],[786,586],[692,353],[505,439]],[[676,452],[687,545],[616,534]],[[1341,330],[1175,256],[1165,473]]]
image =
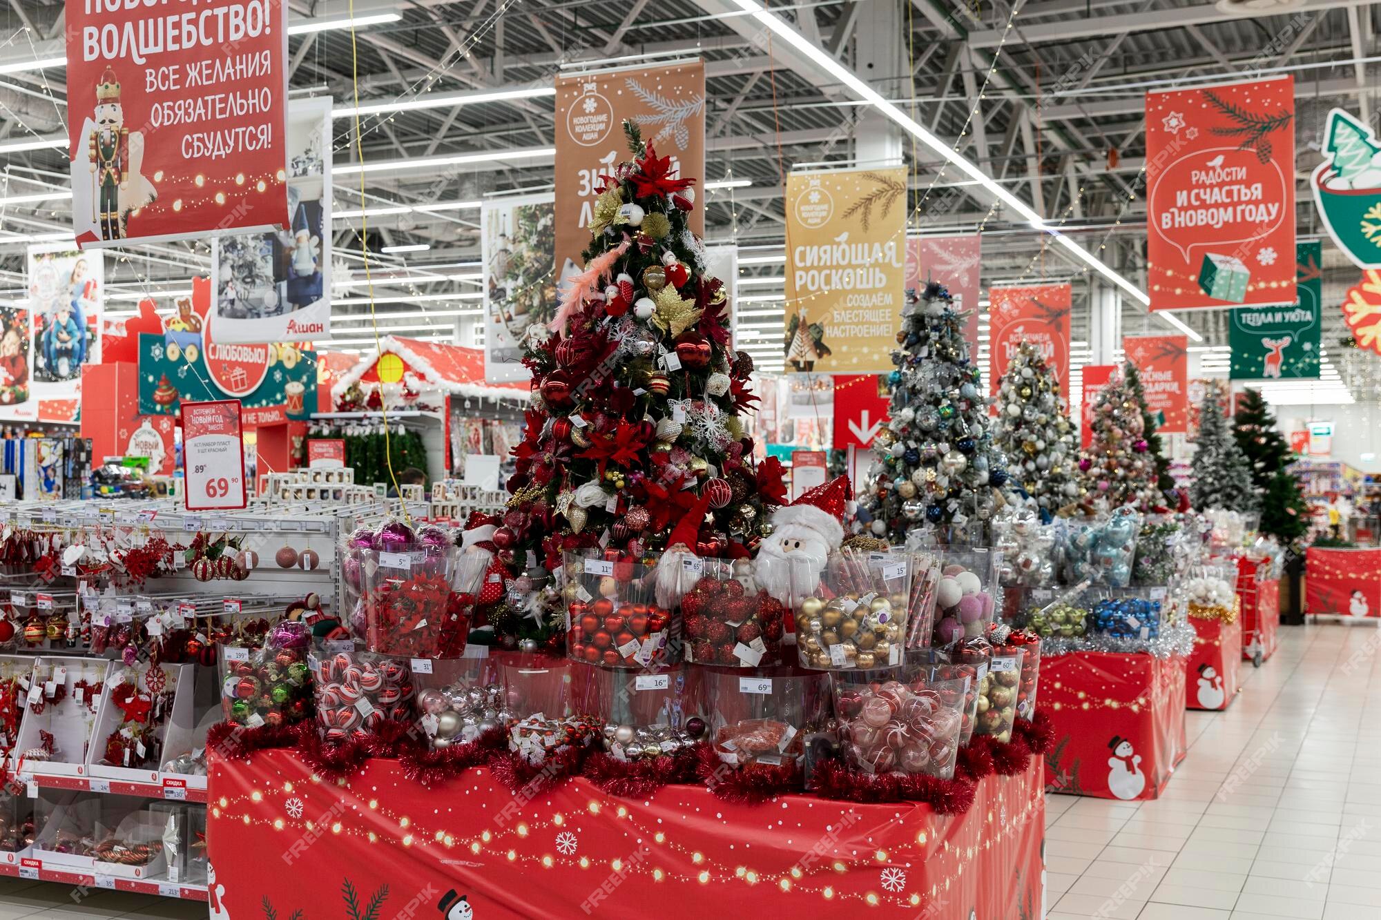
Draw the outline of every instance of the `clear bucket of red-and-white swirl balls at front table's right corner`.
[[[949,779],[969,678],[931,680],[924,666],[833,675],[840,745],[853,769]]]

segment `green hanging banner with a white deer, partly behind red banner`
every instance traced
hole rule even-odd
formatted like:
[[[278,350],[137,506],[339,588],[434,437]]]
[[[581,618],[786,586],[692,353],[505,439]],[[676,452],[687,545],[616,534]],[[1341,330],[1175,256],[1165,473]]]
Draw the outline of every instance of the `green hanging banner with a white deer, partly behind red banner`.
[[[1228,320],[1233,380],[1319,376],[1323,330],[1323,243],[1295,245],[1293,307],[1239,307]]]

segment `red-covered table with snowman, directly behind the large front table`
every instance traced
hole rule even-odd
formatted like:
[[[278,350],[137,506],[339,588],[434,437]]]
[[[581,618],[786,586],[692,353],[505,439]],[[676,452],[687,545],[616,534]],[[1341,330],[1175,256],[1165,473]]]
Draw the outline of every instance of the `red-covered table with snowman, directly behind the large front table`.
[[[1156,798],[1185,758],[1185,659],[1073,652],[1040,663],[1040,709],[1055,727],[1051,792]]]

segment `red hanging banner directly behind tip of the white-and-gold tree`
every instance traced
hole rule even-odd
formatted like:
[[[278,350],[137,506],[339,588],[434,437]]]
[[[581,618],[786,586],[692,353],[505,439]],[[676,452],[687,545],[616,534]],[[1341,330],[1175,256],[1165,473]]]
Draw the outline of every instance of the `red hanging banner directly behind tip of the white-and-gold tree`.
[[[989,349],[992,354],[992,391],[997,392],[1007,373],[1007,365],[1023,343],[1040,348],[1041,356],[1055,373],[1061,391],[1069,391],[1069,311],[1073,287],[1061,285],[1026,285],[1022,287],[992,287],[987,312]]]

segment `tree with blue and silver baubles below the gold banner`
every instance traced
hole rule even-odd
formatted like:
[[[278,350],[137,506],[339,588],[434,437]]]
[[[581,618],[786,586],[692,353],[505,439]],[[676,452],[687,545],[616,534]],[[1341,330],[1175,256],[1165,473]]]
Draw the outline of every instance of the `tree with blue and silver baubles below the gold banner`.
[[[923,297],[907,291],[898,343],[891,420],[873,442],[870,528],[894,542],[925,525],[946,539],[981,537],[1007,471],[949,291],[939,285]]]

